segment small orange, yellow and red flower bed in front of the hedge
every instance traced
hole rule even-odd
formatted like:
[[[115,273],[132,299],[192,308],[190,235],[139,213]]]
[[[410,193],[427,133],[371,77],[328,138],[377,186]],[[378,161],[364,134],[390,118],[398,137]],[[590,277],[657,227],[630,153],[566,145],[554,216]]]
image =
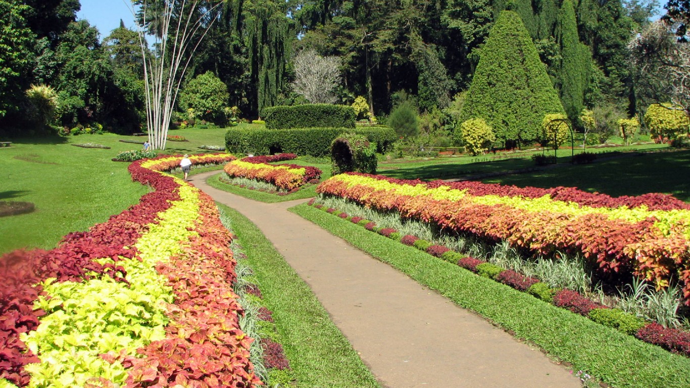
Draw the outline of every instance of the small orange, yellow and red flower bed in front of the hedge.
[[[296,164],[268,164],[282,160],[295,159],[295,154],[245,157],[226,164],[224,171],[230,177],[244,177],[274,184],[290,191],[313,180],[318,180],[322,171],[311,166]]]

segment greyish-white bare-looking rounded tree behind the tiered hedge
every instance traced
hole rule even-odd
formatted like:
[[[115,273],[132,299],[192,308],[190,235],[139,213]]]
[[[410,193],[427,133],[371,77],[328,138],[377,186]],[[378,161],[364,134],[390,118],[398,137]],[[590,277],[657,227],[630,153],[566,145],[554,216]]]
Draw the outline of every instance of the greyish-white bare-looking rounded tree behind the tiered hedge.
[[[295,61],[293,89],[313,104],[335,104],[340,84],[340,58],[322,57],[315,50],[303,50]]]

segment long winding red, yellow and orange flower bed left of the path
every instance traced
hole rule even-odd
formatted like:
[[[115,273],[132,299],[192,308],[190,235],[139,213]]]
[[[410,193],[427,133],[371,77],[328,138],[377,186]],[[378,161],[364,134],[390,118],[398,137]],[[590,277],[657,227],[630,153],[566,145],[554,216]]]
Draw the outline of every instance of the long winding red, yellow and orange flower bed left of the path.
[[[156,191],[108,222],[51,251],[0,258],[0,378],[36,387],[260,384],[230,287],[232,236],[210,197],[157,172],[180,159],[132,163],[132,179]]]

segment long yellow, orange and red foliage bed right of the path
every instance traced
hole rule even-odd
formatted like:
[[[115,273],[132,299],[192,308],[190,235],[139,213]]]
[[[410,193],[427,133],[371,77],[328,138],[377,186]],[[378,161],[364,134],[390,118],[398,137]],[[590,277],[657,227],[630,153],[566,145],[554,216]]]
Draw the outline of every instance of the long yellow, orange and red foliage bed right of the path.
[[[486,187],[484,187],[486,186]],[[500,188],[477,182],[447,184],[394,180],[378,175],[336,175],[317,188],[318,193],[353,200],[404,217],[435,222],[443,228],[473,233],[490,240],[548,254],[580,251],[604,273],[635,273],[666,287],[671,278],[684,282],[690,304],[690,211],[664,197],[654,205],[638,197],[637,207],[604,207],[610,197],[596,202],[564,202],[550,195],[527,195],[531,188]],[[543,193],[544,189],[534,188]],[[562,189],[570,193],[575,189]],[[497,195],[495,193],[503,193]],[[553,195],[559,197],[559,191]],[[522,195],[524,194],[524,195]],[[511,196],[513,195],[513,196]],[[649,195],[647,198],[655,197]],[[597,206],[584,204],[592,202]]]

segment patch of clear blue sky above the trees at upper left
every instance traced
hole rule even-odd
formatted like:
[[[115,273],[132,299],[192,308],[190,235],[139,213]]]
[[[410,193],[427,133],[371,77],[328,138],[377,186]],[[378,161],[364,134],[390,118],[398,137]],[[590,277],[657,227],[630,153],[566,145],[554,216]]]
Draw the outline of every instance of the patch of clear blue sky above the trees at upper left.
[[[127,1],[127,3],[125,3]],[[81,10],[77,20],[86,19],[91,26],[96,26],[101,33],[101,40],[110,35],[110,31],[120,26],[120,19],[125,26],[135,29],[134,17],[128,8],[130,0],[81,0]]]

